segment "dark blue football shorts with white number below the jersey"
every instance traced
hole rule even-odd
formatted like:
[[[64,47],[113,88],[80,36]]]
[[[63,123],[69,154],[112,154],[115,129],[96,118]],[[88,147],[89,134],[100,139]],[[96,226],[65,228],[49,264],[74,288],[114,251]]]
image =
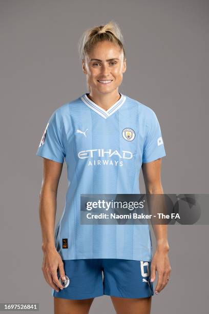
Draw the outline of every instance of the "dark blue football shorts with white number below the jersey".
[[[65,288],[51,295],[56,298],[82,300],[103,295],[120,298],[148,298],[154,295],[150,282],[151,262],[123,259],[62,260]],[[103,272],[103,278],[102,278]],[[57,270],[58,279],[59,271]]]

